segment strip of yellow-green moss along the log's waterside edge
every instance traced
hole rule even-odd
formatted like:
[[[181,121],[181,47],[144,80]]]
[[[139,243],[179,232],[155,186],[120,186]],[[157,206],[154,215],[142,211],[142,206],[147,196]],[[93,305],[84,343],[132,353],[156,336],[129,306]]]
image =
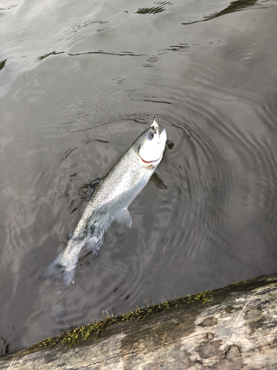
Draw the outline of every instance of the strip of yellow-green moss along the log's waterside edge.
[[[143,308],[138,308],[138,306],[136,306],[135,311],[131,311],[126,314],[124,313],[118,316],[109,316],[107,312],[106,314],[103,312],[103,319],[100,321],[95,321],[85,326],[81,325],[80,327],[72,327],[70,330],[67,332],[64,331],[59,336],[49,337],[41,340],[40,342],[33,344],[33,346],[28,347],[23,354],[27,354],[45,347],[54,347],[60,342],[63,345],[68,344],[69,347],[72,347],[73,345],[79,343],[80,340],[89,340],[94,335],[95,340],[98,340],[100,335],[105,333],[106,329],[115,323],[123,323],[126,321],[139,322],[140,320],[146,319],[148,316],[154,316],[162,311],[170,311],[172,308],[178,309],[182,305],[189,305],[194,302],[200,302],[202,305],[205,305],[213,299],[214,293],[219,292],[220,290],[229,290],[231,287],[241,285],[243,283],[246,282],[242,281],[227,285],[221,289],[206,290],[206,292],[201,292],[194,295],[187,295],[179,298],[177,297],[176,299],[165,301],[157,305],[150,304],[149,306],[146,306],[146,301],[144,301]]]

